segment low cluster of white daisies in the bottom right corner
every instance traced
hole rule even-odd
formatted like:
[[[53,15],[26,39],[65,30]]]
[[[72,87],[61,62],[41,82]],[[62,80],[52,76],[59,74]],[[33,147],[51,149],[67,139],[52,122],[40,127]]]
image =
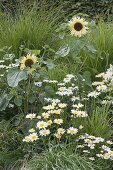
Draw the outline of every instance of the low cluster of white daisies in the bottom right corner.
[[[78,144],[77,148],[87,154],[89,159],[95,160],[95,158],[98,157],[113,160],[113,151],[109,147],[113,145],[112,141],[105,141],[104,138],[88,135],[87,133],[80,135],[77,141],[82,143]]]

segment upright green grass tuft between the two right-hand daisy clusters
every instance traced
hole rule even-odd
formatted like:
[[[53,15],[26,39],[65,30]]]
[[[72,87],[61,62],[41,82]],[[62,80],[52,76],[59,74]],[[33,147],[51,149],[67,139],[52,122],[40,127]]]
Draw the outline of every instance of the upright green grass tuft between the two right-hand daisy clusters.
[[[89,111],[91,110],[91,107],[93,107],[94,110],[92,113],[89,113],[90,116],[83,123],[85,131],[89,134],[101,136],[105,139],[110,138],[113,131],[110,125],[109,107],[97,107],[93,104],[90,106]]]

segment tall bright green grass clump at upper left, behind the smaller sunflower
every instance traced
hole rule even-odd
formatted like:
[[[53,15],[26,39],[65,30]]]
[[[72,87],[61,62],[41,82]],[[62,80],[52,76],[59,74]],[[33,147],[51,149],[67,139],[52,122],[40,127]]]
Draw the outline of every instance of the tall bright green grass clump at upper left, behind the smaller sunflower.
[[[47,3],[42,3],[41,6],[37,3],[30,9],[21,5],[18,8],[15,19],[10,15],[0,16],[1,48],[12,46],[12,51],[18,56],[21,45],[33,50],[40,49],[45,44],[59,47],[58,39],[53,38],[52,34],[61,18],[61,6],[48,9]]]

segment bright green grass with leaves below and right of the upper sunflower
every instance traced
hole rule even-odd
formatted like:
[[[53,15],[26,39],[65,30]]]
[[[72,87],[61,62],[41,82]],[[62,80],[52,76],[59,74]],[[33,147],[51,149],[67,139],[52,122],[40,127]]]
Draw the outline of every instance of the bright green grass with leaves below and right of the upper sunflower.
[[[112,23],[100,21],[83,39],[64,37],[62,43],[64,47],[68,44],[70,51],[63,59],[58,58],[57,67],[49,71],[50,78],[61,80],[68,73],[88,71],[93,80],[95,74],[105,71],[113,63],[112,35]]]

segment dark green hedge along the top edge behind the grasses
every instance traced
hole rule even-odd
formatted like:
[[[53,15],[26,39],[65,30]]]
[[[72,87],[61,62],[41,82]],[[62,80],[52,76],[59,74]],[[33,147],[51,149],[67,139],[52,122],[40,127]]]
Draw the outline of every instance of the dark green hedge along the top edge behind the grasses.
[[[9,2],[9,0],[2,0],[1,8],[3,11],[10,12],[14,15],[20,3],[32,6],[34,2],[40,3],[41,1],[42,0],[10,0]],[[43,2],[48,2],[50,6],[53,3],[56,6],[61,3],[67,4],[64,6],[64,10],[68,14],[85,13],[95,19],[99,19],[100,17],[104,20],[108,18],[113,19],[113,0],[43,0]]]

